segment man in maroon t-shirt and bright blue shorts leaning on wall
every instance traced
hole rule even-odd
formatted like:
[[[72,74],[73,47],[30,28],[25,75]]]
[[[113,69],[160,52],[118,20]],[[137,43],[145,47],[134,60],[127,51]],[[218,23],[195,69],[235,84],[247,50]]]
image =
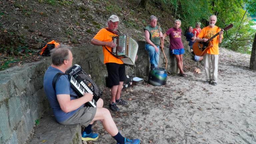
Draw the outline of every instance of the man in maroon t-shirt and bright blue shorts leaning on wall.
[[[174,27],[170,28],[164,35],[162,43],[164,43],[164,38],[169,36],[170,38],[170,53],[175,55],[177,66],[180,70],[180,76],[187,77],[183,71],[183,54],[185,53],[183,43],[181,41],[181,21],[179,19],[174,21]]]

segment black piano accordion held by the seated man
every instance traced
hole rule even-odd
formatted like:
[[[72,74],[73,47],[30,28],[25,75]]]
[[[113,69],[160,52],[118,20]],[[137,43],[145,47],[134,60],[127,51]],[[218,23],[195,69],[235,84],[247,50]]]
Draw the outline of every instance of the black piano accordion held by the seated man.
[[[75,64],[65,74],[68,75],[71,88],[76,92],[78,98],[82,97],[84,93],[91,93],[93,99],[87,102],[86,105],[97,107],[97,101],[102,96],[102,91],[82,67]]]

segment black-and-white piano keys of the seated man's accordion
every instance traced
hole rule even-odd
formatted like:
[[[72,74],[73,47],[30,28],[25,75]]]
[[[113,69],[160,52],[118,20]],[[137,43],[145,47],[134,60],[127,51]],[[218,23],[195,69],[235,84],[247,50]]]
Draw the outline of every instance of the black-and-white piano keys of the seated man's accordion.
[[[71,76],[70,83],[75,91],[78,92],[80,95],[83,95],[84,93],[90,93],[93,95],[93,92],[82,80],[75,79],[73,76]],[[88,104],[92,107],[97,107],[97,102],[94,99],[89,101]]]

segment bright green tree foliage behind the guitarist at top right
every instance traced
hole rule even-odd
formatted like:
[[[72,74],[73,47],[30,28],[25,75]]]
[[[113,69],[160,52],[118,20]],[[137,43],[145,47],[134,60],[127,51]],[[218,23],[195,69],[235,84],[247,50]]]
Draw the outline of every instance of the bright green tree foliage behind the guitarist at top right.
[[[256,15],[255,0],[152,0],[157,7],[171,13],[175,19],[182,21],[182,29],[188,26],[195,27],[196,22],[202,22],[202,28],[210,15],[217,15],[216,25],[224,28],[230,23],[234,27],[224,34],[224,40],[220,46],[228,49],[250,53],[253,36],[256,32],[251,26],[249,14]]]

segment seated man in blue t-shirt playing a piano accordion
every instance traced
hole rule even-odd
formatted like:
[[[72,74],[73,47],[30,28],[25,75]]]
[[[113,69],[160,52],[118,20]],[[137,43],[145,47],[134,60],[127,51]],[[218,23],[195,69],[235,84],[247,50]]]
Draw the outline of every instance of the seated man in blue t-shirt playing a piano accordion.
[[[118,144],[139,144],[139,139],[124,138],[118,131],[108,109],[102,108],[103,100],[97,101],[97,107],[87,107],[85,103],[92,100],[93,95],[84,93],[77,96],[70,86],[68,75],[62,75],[53,88],[53,79],[57,73],[65,73],[72,66],[73,56],[70,47],[61,45],[51,51],[52,64],[44,75],[44,91],[53,114],[58,123],[63,125],[81,124],[85,126],[82,140],[97,140],[98,134],[92,133],[92,124],[100,120],[103,128],[117,141]]]

